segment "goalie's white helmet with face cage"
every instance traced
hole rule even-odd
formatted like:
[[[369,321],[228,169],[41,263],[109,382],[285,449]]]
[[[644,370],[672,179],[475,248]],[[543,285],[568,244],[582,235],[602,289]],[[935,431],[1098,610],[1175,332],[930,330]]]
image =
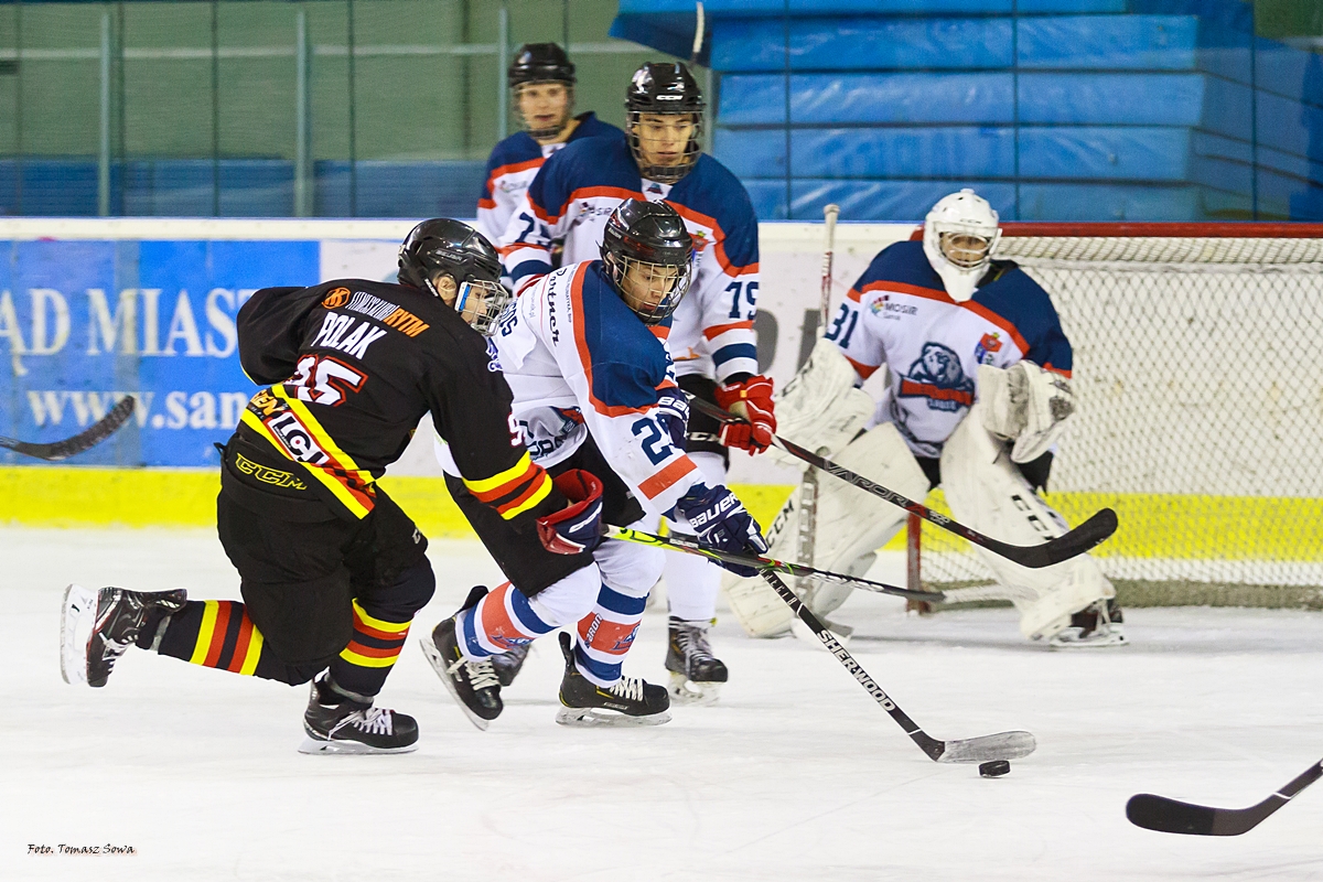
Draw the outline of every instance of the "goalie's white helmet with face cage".
[[[957,303],[974,296],[1002,238],[998,214],[987,200],[966,188],[943,196],[923,218],[923,254]]]

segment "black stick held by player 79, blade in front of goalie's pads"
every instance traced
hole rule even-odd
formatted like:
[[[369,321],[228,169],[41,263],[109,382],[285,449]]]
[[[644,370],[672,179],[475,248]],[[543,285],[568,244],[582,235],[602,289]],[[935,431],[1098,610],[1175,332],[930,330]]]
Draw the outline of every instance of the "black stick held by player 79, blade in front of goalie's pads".
[[[699,398],[691,398],[689,403],[699,413],[706,414],[713,419],[718,419],[724,423],[730,422],[744,422],[733,414],[728,414],[716,405],[710,405]],[[878,496],[892,505],[898,505],[910,514],[918,514],[925,521],[937,524],[942,529],[955,533],[957,536],[968,540],[974,545],[979,545],[999,554],[1008,561],[1019,563],[1020,566],[1027,566],[1032,569],[1039,569],[1044,566],[1052,566],[1053,563],[1061,563],[1062,561],[1069,561],[1073,557],[1078,557],[1094,547],[1099,542],[1105,541],[1109,536],[1117,532],[1117,513],[1110,508],[1099,509],[1094,512],[1093,517],[1074,528],[1069,533],[1058,536],[1054,540],[1048,540],[1043,545],[1011,545],[1009,542],[1002,542],[994,540],[991,536],[983,536],[978,530],[970,529],[960,524],[959,521],[953,521],[945,514],[939,514],[926,505],[919,505],[918,502],[909,500],[896,491],[889,491],[881,484],[875,484],[863,475],[856,475],[848,468],[843,468],[836,463],[831,461],[824,456],[819,456],[812,451],[804,450],[799,444],[786,440],[779,435],[771,436],[771,443],[786,451],[796,459],[802,459],[810,465],[815,465],[824,472],[835,475],[847,484],[853,484],[861,491],[868,491],[873,496]]]

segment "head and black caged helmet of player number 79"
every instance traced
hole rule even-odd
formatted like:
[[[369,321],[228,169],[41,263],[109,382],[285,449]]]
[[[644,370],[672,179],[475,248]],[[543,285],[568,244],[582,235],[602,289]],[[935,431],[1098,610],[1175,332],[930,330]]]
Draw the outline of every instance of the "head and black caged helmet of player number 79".
[[[643,65],[624,93],[630,152],[650,181],[675,184],[703,153],[703,91],[680,62]]]

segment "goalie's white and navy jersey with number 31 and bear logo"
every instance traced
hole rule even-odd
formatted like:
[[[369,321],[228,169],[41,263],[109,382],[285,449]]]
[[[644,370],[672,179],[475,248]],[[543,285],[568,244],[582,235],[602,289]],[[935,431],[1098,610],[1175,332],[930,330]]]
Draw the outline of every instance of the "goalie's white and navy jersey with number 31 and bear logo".
[[[957,303],[922,242],[884,249],[827,328],[860,382],[886,364],[875,424],[896,423],[916,456],[937,458],[978,397],[978,366],[1025,358],[1070,376],[1072,349],[1048,292],[1015,263],[995,261]]]

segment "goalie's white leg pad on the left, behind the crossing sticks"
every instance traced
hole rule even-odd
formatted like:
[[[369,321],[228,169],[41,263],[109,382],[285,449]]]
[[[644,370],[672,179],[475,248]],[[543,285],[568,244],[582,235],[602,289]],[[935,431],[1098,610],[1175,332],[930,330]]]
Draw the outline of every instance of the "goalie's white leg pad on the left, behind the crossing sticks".
[[[836,464],[910,499],[927,496],[923,469],[892,423],[856,438]],[[811,566],[855,574],[861,557],[871,555],[905,525],[908,514],[857,487],[827,473],[818,477],[818,536]],[[769,557],[792,559],[798,537],[798,493],[792,493],[769,530]],[[865,565],[867,569],[867,565]],[[790,628],[794,614],[761,578],[724,581],[732,612],[750,636],[777,636]],[[815,583],[803,600],[814,615],[824,616],[845,602],[849,586]],[[779,612],[777,607],[785,612]],[[771,628],[778,628],[773,631]]]

